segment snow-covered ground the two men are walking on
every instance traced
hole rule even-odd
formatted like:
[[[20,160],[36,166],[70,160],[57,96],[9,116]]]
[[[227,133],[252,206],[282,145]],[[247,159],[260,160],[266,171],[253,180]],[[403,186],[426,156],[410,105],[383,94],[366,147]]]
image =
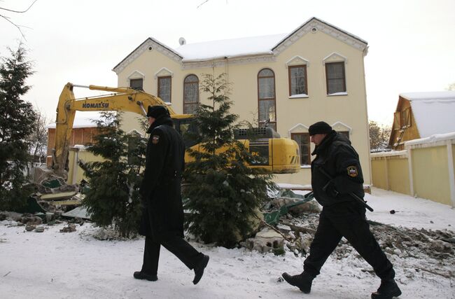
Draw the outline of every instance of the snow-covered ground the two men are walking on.
[[[373,188],[365,198],[373,221],[396,227],[455,230],[455,209],[444,204]],[[389,211],[394,209],[395,214]],[[304,258],[225,249],[194,243],[209,254],[200,284],[193,272],[165,249],[159,280],[139,281],[144,239],[100,241],[90,223],[76,232],[61,233],[64,223],[45,231],[26,232],[15,221],[0,221],[1,298],[370,298],[379,279],[369,265],[351,253],[341,260],[329,258],[314,280],[309,295],[281,281],[281,272],[302,271]],[[400,298],[455,298],[455,280],[414,270],[422,260],[390,256],[403,294]],[[434,265],[437,272],[437,265]],[[455,265],[444,265],[455,273]],[[432,270],[432,269],[430,269]]]

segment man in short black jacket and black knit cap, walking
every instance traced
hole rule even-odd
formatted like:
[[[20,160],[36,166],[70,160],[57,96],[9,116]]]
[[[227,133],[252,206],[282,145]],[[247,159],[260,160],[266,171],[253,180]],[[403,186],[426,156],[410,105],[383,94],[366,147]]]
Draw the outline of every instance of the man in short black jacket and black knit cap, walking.
[[[283,273],[283,278],[303,293],[309,293],[314,277],[319,274],[342,237],[345,237],[381,279],[381,285],[371,294],[371,298],[401,295],[394,279],[393,266],[370,232],[365,207],[349,195],[355,193],[360,198],[365,195],[358,154],[349,139],[323,121],[311,125],[309,135],[316,146],[311,153],[316,155],[311,162],[311,186],[314,197],[323,209],[309,256],[303,263],[304,271],[298,275]]]

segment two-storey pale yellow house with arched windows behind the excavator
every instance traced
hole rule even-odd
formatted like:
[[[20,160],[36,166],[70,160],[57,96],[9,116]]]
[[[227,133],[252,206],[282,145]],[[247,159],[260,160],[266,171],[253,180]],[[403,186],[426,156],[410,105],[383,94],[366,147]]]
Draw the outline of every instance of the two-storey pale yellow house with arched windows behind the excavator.
[[[276,182],[310,183],[308,127],[325,120],[349,136],[370,184],[366,41],[311,18],[290,34],[179,43],[173,49],[146,39],[113,68],[118,86],[142,88],[176,113],[192,113],[199,103],[209,104],[199,90],[203,74],[225,73],[232,113],[260,126],[269,122],[281,137],[300,144],[301,171],[277,175]],[[124,120],[127,132],[140,127],[134,114],[125,113]]]

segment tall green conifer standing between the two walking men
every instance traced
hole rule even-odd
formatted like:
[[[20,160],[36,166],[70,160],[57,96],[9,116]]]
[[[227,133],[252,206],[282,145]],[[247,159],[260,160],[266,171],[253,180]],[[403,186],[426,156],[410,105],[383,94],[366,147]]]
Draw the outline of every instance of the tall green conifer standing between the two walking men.
[[[192,212],[188,231],[228,248],[253,233],[255,213],[267,200],[267,188],[274,186],[272,174],[248,167],[253,157],[234,139],[239,116],[230,113],[229,89],[225,74],[204,74],[201,90],[212,104],[200,105],[194,120],[199,132],[186,136],[202,151],[190,151],[194,161],[186,163],[183,188],[185,207]]]

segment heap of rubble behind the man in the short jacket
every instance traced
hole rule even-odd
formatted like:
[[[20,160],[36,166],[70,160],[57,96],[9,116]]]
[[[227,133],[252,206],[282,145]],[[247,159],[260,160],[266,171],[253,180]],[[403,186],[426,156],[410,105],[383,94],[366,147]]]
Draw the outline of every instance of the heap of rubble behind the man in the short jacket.
[[[318,225],[320,206],[312,197],[304,202],[302,196],[281,190],[265,208],[260,231],[242,245],[259,252],[280,254],[290,251],[295,256],[306,256]],[[271,214],[273,217],[270,217]],[[402,269],[408,279],[422,272],[454,277],[455,271],[451,266],[455,265],[454,231],[397,228],[374,221],[368,223],[379,246],[391,260],[404,259],[405,264],[407,259],[421,261],[419,267],[414,265]],[[283,250],[279,250],[280,246]],[[343,238],[331,257],[342,259],[346,256],[359,255]],[[374,274],[369,268],[363,272]]]

